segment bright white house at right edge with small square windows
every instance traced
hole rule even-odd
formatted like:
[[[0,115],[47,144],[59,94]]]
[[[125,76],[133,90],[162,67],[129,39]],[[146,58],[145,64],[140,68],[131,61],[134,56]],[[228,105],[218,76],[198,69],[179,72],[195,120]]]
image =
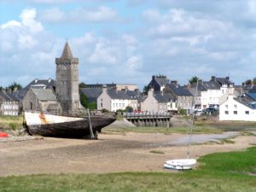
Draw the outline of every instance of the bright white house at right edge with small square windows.
[[[228,96],[219,106],[219,120],[256,121],[256,102],[248,96]]]

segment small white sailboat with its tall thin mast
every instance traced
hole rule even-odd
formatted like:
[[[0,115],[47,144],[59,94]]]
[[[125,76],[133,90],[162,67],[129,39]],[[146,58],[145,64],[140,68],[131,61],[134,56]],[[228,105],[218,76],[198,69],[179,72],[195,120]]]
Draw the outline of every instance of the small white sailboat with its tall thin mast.
[[[198,89],[198,80],[196,82],[195,96],[197,96],[197,89]],[[195,102],[195,99],[193,99],[192,109],[194,106],[194,102]],[[194,110],[192,110],[192,111],[193,111],[193,116],[192,116],[192,125],[191,125],[191,129],[190,129],[190,133],[189,133],[188,157],[187,157],[187,159],[180,159],[180,160],[166,160],[164,163],[164,168],[166,168],[166,169],[174,169],[174,170],[184,171],[184,170],[192,169],[192,167],[195,166],[195,164],[196,164],[195,159],[189,158],[189,146],[191,143],[192,131],[195,126],[195,124],[194,124],[195,113],[194,113]]]

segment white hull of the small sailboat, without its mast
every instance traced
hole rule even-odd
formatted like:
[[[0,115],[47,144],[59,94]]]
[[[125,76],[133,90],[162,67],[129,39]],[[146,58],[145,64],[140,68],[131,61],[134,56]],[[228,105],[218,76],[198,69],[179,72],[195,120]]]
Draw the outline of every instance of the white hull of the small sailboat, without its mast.
[[[195,159],[166,160],[164,168],[174,170],[189,170],[195,165]]]

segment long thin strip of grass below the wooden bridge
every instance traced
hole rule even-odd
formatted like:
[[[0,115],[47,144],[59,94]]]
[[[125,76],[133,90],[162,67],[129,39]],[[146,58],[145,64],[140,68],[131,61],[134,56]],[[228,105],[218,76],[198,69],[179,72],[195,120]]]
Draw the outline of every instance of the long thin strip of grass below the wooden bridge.
[[[172,134],[172,133],[181,133],[188,134],[190,127],[112,127],[108,126],[102,129],[102,133],[119,133],[125,134],[127,132],[138,132],[138,133],[163,133],[163,134]],[[195,126],[193,128],[193,133],[195,134],[219,134],[223,133],[223,130],[210,126]]]

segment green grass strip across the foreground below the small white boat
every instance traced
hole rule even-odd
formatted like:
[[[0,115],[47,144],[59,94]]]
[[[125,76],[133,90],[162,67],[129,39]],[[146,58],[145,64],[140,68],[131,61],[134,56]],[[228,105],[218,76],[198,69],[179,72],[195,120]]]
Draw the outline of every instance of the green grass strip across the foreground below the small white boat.
[[[256,191],[256,147],[207,154],[189,172],[120,172],[0,177],[1,191]],[[162,162],[160,162],[162,163]]]

